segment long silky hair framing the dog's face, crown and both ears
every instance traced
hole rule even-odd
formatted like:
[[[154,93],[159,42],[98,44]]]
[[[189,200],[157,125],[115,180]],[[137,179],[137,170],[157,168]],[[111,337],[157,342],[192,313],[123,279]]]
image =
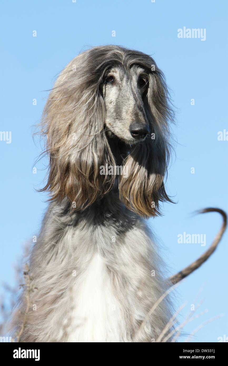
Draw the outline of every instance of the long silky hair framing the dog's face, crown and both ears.
[[[169,120],[173,112],[162,72],[148,55],[119,46],[92,48],[75,57],[61,72],[46,103],[41,130],[46,135],[49,178],[42,190],[52,199],[65,196],[79,210],[108,192],[115,176],[100,175],[101,165],[115,165],[104,130],[105,105],[99,87],[105,71],[121,64],[142,66],[149,76],[144,98],[151,133],[124,161],[129,176],[121,176],[124,204],[144,217],[159,213],[159,201],[169,201],[163,179],[169,158]],[[155,71],[151,71],[154,65]],[[153,153],[152,153],[153,152]],[[155,207],[152,207],[155,202]]]

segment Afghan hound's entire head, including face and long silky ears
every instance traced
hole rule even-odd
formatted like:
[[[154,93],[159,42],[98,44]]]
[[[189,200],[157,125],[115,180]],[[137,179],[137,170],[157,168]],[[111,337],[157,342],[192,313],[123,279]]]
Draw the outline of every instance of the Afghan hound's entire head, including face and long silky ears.
[[[173,119],[168,101],[164,75],[142,52],[108,45],[75,57],[43,113],[49,177],[42,190],[59,201],[67,196],[81,210],[118,179],[130,210],[159,214],[159,201],[170,201],[163,182]],[[120,163],[124,174],[109,169]]]

